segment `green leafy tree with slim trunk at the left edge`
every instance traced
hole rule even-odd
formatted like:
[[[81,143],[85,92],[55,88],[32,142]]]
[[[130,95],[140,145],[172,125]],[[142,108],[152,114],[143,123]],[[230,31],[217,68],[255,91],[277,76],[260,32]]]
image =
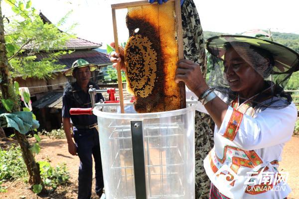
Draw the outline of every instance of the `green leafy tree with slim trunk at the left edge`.
[[[26,77],[51,77],[53,71],[64,68],[64,66],[55,64],[55,58],[67,52],[60,51],[48,54],[48,57],[42,58],[38,62],[36,61],[36,54],[51,52],[51,50],[58,47],[61,49],[61,46],[71,36],[60,31],[53,24],[43,23],[35,9],[31,7],[30,0],[5,1],[11,5],[11,9],[18,20],[9,21],[9,19],[2,16],[0,0],[0,88],[2,100],[11,106],[9,110],[17,112],[20,111],[20,106],[11,74],[13,76],[21,75],[24,79]],[[62,18],[58,25],[62,24],[66,17]],[[4,29],[4,19],[7,29]],[[30,151],[26,136],[15,131],[15,137],[20,145],[27,167],[29,184],[43,185],[39,165],[35,162]],[[42,189],[45,191],[44,188]]]

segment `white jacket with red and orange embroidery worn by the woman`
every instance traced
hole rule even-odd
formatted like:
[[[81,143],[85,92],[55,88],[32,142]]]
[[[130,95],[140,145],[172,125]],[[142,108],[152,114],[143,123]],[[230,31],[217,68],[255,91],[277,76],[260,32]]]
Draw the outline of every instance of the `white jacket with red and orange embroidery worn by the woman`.
[[[206,112],[201,104],[198,109]],[[231,199],[286,198],[291,192],[288,174],[278,172],[278,162],[296,119],[294,103],[254,112],[250,103],[232,101],[221,126],[215,126],[215,145],[204,160],[220,193]]]

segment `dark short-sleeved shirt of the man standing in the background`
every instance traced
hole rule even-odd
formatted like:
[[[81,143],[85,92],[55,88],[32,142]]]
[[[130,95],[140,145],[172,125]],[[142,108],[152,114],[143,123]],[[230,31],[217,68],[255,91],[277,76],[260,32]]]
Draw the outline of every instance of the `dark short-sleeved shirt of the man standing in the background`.
[[[93,85],[93,88],[99,89],[97,85],[89,82],[89,85]],[[95,96],[95,102],[104,100],[102,94],[98,93]],[[97,122],[97,116],[92,115],[70,115],[70,108],[91,108],[91,99],[89,93],[82,91],[77,82],[72,85],[67,85],[64,89],[62,97],[62,117],[71,118],[74,126],[88,126]],[[77,129],[74,129],[74,131]]]

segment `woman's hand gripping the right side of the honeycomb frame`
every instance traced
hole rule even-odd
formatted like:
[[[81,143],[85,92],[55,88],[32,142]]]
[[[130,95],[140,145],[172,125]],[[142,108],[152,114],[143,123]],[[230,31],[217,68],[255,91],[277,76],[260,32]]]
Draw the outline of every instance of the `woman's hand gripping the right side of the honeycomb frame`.
[[[209,89],[198,64],[184,59],[177,63],[177,67],[174,78],[176,83],[184,82],[198,98]]]

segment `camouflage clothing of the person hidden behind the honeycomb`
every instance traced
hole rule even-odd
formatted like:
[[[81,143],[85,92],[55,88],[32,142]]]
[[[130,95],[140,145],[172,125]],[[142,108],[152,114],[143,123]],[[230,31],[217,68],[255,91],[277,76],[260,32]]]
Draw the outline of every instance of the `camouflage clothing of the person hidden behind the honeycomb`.
[[[206,76],[206,54],[202,28],[193,0],[182,6],[184,57],[198,63]],[[210,180],[205,173],[203,160],[214,146],[213,121],[210,116],[195,112],[195,199],[209,199]]]

